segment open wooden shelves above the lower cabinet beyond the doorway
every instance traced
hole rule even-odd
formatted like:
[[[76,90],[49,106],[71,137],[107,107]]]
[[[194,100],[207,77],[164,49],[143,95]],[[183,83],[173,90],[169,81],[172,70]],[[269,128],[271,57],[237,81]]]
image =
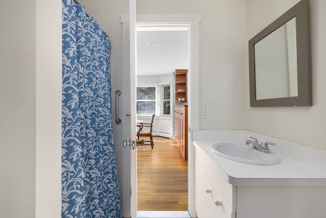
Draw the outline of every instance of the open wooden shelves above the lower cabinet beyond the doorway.
[[[188,102],[188,95],[187,95],[188,70],[176,69],[174,71],[174,74],[175,74],[175,101],[179,103]]]

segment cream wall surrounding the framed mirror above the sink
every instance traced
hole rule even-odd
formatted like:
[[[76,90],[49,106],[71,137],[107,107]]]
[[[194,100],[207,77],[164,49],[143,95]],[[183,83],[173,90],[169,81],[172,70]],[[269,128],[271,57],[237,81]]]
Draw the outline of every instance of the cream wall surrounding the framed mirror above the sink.
[[[247,41],[299,0],[247,0]],[[311,107],[251,108],[249,99],[248,47],[246,51],[246,124],[247,129],[326,150],[326,1],[310,0],[312,95]]]

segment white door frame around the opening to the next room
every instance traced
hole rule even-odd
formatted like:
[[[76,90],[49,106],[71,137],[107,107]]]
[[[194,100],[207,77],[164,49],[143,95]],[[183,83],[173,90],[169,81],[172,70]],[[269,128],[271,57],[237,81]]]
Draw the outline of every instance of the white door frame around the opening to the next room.
[[[195,210],[195,152],[193,141],[193,131],[199,130],[199,23],[201,21],[200,14],[137,14],[137,23],[188,23],[189,25],[189,69],[188,69],[188,211],[191,217],[196,217]],[[130,77],[130,51],[129,51],[129,15],[121,15],[122,36],[123,36],[123,80]],[[135,80],[134,80],[135,81]],[[127,81],[126,81],[127,84]],[[124,89],[123,89],[124,90]],[[129,89],[130,90],[130,89]],[[130,104],[129,99],[123,98],[126,104]],[[124,107],[123,107],[124,108]],[[135,117],[134,117],[135,118]],[[125,125],[124,125],[125,126]],[[128,126],[128,125],[127,125]],[[125,138],[125,137],[124,137]],[[125,153],[126,151],[124,151]],[[126,157],[128,155],[126,154]],[[124,159],[126,160],[126,159]],[[124,161],[124,169],[130,169],[130,162]],[[127,166],[129,164],[129,166]],[[129,173],[130,175],[130,173]],[[123,188],[128,188],[130,179],[126,178],[127,173],[124,173]],[[129,183],[128,183],[129,181]],[[130,186],[129,186],[130,187]],[[129,209],[126,193],[123,191],[123,214]],[[129,203],[130,205],[130,203]],[[130,205],[131,207],[131,205]],[[123,215],[124,216],[124,215]],[[132,216],[132,218],[135,216]]]

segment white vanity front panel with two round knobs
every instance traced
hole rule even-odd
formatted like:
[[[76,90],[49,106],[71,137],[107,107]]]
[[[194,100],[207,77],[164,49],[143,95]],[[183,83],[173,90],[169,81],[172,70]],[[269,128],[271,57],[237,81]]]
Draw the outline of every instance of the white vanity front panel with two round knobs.
[[[195,207],[198,218],[235,217],[235,213],[228,208],[197,160],[195,160]]]

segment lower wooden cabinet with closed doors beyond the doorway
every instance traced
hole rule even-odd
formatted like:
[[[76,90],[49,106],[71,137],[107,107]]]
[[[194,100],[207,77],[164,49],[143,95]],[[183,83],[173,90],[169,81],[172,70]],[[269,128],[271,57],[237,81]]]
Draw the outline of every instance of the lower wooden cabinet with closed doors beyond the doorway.
[[[175,137],[184,160],[188,159],[188,106],[174,107]]]

